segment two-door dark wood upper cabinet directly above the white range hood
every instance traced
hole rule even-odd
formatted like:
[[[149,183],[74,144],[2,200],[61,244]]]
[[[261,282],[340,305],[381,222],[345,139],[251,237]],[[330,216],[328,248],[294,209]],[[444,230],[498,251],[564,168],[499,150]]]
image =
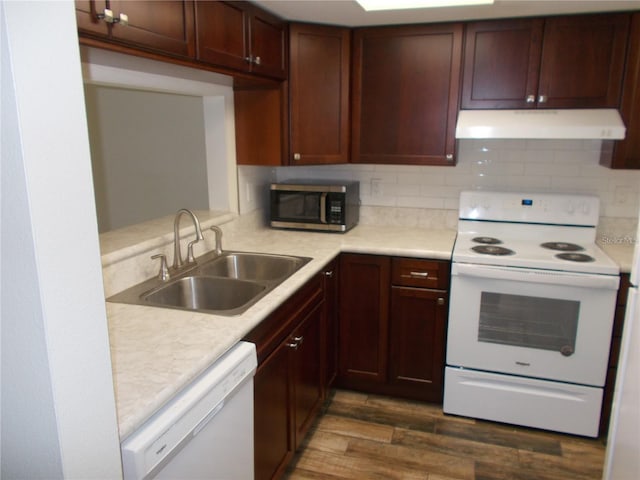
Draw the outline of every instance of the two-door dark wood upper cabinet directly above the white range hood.
[[[471,22],[462,108],[618,106],[628,14]]]

